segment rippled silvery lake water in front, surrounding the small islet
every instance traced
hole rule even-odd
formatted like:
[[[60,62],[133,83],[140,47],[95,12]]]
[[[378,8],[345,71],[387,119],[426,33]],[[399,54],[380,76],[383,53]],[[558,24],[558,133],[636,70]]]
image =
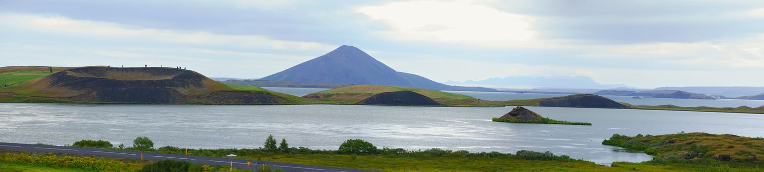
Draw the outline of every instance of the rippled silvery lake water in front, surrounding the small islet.
[[[528,107],[543,116],[593,126],[497,123],[513,107],[358,105],[0,104],[0,142],[72,144],[103,139],[130,145],[257,148],[267,135],[290,146],[337,149],[347,139],[377,147],[466,151],[552,151],[597,164],[647,161],[643,153],[601,145],[614,133],[675,132],[764,136],[764,116],[662,110]]]

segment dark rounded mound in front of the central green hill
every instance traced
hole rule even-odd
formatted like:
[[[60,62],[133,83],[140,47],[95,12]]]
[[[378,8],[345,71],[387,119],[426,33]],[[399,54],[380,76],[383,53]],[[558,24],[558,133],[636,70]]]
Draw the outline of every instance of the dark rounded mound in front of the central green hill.
[[[416,106],[442,106],[430,97],[413,91],[395,91],[376,94],[359,102],[360,104],[376,105],[416,105]]]

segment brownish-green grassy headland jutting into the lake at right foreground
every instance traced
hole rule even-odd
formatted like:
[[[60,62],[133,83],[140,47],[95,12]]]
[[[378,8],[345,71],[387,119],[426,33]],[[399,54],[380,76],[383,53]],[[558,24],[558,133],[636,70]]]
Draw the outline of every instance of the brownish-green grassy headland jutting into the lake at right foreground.
[[[730,167],[764,170],[764,139],[704,132],[679,132],[670,135],[618,135],[602,142],[645,151],[655,155],[643,164],[681,164],[686,166]],[[643,165],[642,164],[642,165]]]

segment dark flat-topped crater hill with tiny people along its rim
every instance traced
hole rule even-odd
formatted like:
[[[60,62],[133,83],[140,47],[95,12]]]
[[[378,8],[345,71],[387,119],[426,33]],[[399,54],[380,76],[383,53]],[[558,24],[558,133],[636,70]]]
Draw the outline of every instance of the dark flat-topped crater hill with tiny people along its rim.
[[[151,104],[279,104],[270,92],[238,91],[197,72],[178,68],[72,68],[29,82],[57,100]]]

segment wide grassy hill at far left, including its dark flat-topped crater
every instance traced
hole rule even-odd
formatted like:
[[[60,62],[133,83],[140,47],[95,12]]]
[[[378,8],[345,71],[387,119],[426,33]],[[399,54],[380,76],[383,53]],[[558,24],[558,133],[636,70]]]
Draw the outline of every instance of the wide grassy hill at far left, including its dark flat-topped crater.
[[[53,69],[53,73],[44,70]],[[56,70],[63,71],[56,72]],[[5,87],[3,87],[5,86]],[[0,68],[0,101],[131,104],[327,104],[177,68]]]

